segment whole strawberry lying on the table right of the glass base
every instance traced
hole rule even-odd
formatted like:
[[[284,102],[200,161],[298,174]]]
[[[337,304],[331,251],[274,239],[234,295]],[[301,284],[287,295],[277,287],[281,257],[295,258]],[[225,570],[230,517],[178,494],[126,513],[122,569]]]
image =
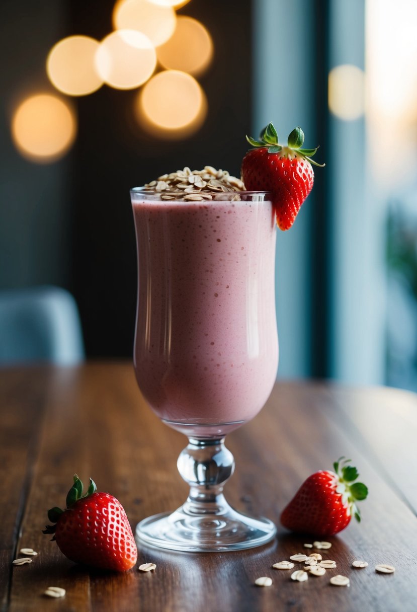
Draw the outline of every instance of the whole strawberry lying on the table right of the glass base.
[[[368,490],[363,483],[353,482],[358,470],[347,465],[350,459],[343,459],[333,464],[334,472],[316,472],[301,485],[281,514],[284,527],[320,537],[342,531],[352,515],[360,521],[356,501],[365,499]]]

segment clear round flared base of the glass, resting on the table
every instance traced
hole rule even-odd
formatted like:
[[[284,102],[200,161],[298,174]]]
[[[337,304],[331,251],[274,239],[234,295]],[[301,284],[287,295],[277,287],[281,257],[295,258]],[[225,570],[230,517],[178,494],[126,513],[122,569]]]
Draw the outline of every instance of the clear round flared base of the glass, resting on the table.
[[[251,518],[227,504],[221,514],[190,515],[184,506],[156,514],[136,527],[136,542],[186,552],[244,550],[270,542],[276,527],[267,518]]]

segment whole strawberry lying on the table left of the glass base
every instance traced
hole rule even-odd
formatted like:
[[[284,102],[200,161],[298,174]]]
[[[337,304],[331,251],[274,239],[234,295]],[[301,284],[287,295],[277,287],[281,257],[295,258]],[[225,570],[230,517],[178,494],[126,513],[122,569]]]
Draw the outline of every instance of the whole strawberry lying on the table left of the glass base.
[[[87,493],[74,475],[67,495],[67,507],[51,508],[44,534],[54,534],[53,540],[68,559],[84,565],[125,572],[138,558],[135,538],[126,513],[116,498],[97,493],[90,479]]]

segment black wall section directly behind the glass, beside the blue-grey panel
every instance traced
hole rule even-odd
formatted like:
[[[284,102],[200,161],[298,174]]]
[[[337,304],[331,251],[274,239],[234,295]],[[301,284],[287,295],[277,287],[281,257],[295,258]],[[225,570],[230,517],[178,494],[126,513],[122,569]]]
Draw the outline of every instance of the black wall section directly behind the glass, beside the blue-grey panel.
[[[72,33],[101,39],[113,2],[70,2]],[[129,188],[185,165],[239,173],[251,116],[250,0],[192,0],[179,11],[202,21],[215,57],[199,78],[208,100],[202,129],[186,140],[152,140],[133,121],[135,91],[103,87],[78,100],[73,149],[72,275],[90,357],[130,356],[136,303],[135,232]],[[98,18],[100,17],[100,18]]]

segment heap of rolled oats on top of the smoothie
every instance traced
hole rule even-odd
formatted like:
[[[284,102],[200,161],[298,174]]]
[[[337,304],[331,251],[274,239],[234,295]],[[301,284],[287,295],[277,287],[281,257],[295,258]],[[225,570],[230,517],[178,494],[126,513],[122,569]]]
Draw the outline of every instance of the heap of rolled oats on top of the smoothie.
[[[224,200],[224,193],[230,192],[232,195],[227,199],[237,201],[240,196],[236,192],[244,189],[245,185],[236,176],[213,166],[204,166],[204,170],[190,170],[185,166],[145,185],[145,190],[161,192],[161,200]]]

